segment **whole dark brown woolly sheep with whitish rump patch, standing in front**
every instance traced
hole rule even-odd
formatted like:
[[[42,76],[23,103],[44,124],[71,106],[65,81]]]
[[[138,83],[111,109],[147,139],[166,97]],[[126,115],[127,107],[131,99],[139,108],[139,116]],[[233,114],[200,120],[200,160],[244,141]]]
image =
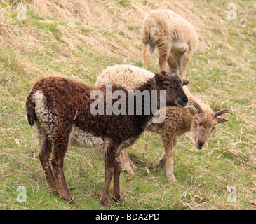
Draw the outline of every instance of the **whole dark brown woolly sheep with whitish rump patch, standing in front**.
[[[186,106],[187,97],[182,90],[182,85],[186,84],[175,74],[161,72],[142,83],[137,90],[149,90],[150,94],[152,90],[165,90],[166,106]],[[109,204],[112,176],[113,197],[117,201],[121,200],[120,166],[116,158],[122,148],[130,146],[140,137],[153,117],[153,111],[150,111],[149,115],[144,114],[142,97],[142,115],[92,115],[90,104],[95,102],[95,99],[90,99],[90,93],[93,90],[100,90],[104,94],[106,110],[105,86],[96,88],[67,78],[43,78],[32,87],[27,97],[26,110],[29,124],[36,124],[39,132],[39,160],[46,180],[54,193],[59,193],[61,198],[69,202],[73,202],[73,199],[63,172],[64,157],[69,144],[104,148],[105,184],[101,202],[105,205]],[[115,90],[123,90],[126,93],[128,105],[128,91],[119,85],[112,85],[112,92]],[[97,100],[100,101],[100,98]],[[113,106],[118,99],[111,100]],[[134,105],[136,110],[136,100]]]

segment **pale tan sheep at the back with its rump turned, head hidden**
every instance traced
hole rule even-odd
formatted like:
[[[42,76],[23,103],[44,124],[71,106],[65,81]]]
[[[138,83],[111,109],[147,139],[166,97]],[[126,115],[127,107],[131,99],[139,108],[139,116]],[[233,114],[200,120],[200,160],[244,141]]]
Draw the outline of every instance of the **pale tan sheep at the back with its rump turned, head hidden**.
[[[144,69],[157,46],[160,70],[166,71],[168,61],[170,71],[177,70],[185,78],[187,64],[198,45],[198,36],[190,22],[172,10],[152,10],[144,18],[142,25]]]

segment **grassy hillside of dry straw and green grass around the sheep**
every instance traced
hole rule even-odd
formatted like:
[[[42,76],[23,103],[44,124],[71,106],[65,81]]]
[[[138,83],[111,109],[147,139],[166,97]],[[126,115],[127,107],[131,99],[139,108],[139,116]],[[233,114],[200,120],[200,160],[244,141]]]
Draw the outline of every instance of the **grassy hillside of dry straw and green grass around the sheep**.
[[[25,3],[25,20],[18,4]],[[102,155],[69,148],[67,185],[76,204],[50,193],[37,158],[36,131],[27,123],[25,99],[35,80],[65,76],[94,85],[107,66],[142,66],[140,28],[152,9],[168,8],[187,18],[199,36],[189,62],[189,90],[214,111],[229,108],[229,123],[215,129],[198,150],[189,134],[174,152],[175,183],[156,167],[163,146],[145,132],[129,148],[137,176],[121,174],[124,205],[112,209],[256,209],[256,4],[229,1],[39,0],[0,3],[0,209],[107,209],[100,204]],[[159,69],[157,54],[149,70]],[[131,178],[131,181],[126,181]],[[27,202],[16,200],[18,186]],[[229,187],[236,202],[228,202]]]

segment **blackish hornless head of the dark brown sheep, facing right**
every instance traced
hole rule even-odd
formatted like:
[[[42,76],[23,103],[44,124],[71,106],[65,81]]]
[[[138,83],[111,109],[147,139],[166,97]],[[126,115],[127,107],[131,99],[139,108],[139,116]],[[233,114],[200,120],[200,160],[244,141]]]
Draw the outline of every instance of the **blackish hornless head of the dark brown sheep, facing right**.
[[[177,74],[166,71],[157,73],[155,80],[159,90],[166,90],[166,106],[187,106],[188,99],[182,86],[187,85],[188,80],[182,80]]]

